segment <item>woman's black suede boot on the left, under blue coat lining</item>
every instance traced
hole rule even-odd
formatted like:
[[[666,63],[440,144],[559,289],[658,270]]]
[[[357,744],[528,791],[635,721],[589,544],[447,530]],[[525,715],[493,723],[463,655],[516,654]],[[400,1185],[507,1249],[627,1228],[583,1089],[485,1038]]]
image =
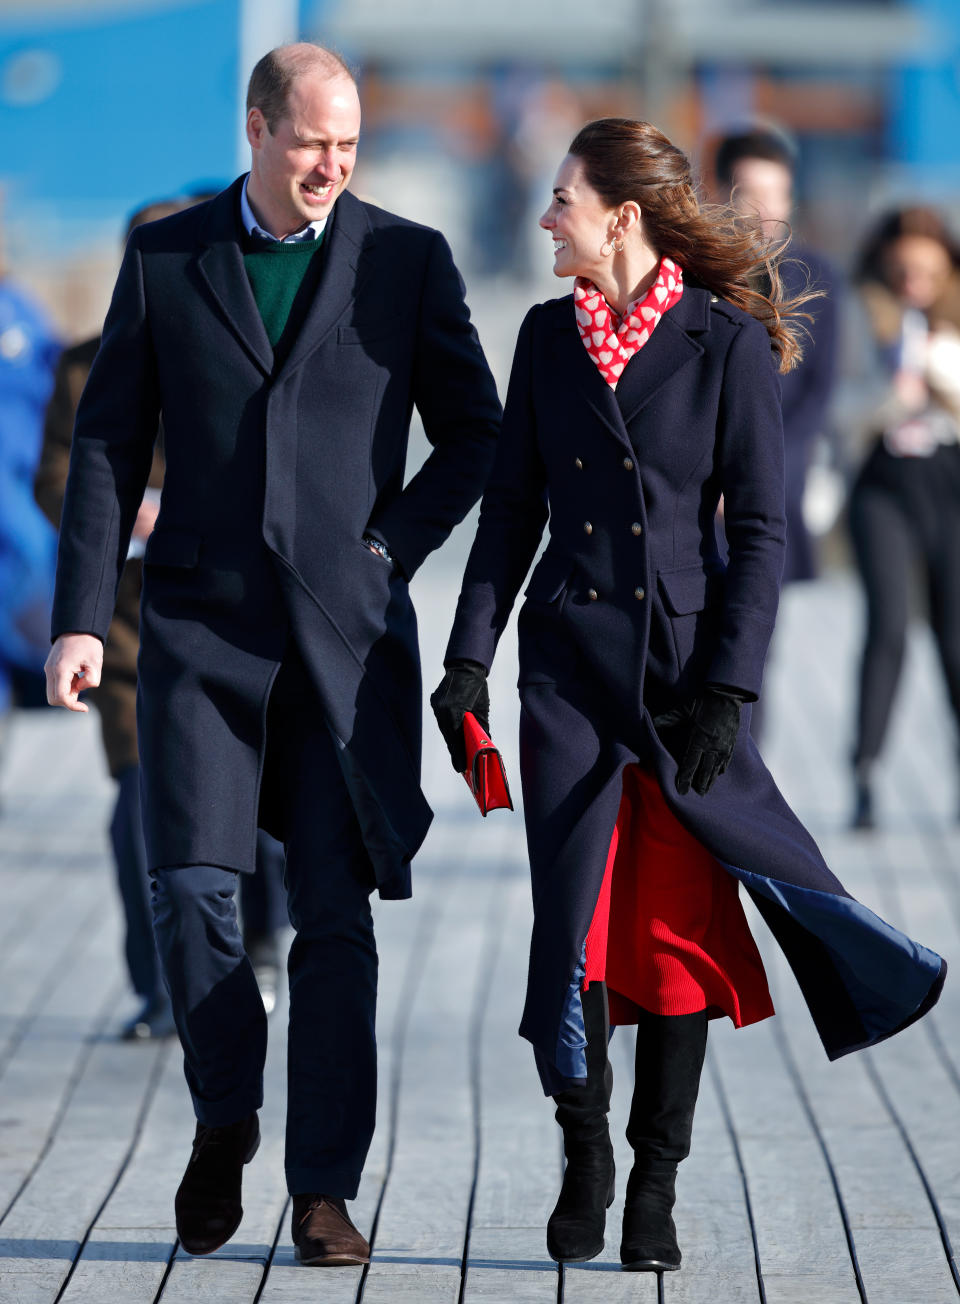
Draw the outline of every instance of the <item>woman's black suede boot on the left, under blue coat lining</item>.
[[[613,1204],[613,1145],[607,1125],[613,1069],[607,1058],[607,987],[593,982],[583,1000],[587,1081],[553,1099],[563,1129],[566,1168],[560,1200],[547,1223],[547,1249],[561,1264],[595,1258],[604,1248],[607,1210]]]

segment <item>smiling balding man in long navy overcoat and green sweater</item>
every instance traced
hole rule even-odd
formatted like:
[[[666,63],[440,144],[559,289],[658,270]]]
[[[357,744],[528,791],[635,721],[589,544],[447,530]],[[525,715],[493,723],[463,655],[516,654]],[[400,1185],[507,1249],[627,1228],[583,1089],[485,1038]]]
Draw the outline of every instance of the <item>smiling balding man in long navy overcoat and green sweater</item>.
[[[143,559],[142,803],[154,918],[197,1115],[177,1232],[240,1223],[263,1005],[236,926],[257,827],[287,849],[286,1170],[303,1262],[364,1262],[344,1200],[374,1125],[369,893],[410,895],[420,665],[407,582],[479,498],[496,389],[450,250],[346,190],[348,69],[317,46],[253,72],[252,168],[130,237],[73,438],[47,662],[86,709],[163,419]],[[433,451],[404,488],[411,409]]]

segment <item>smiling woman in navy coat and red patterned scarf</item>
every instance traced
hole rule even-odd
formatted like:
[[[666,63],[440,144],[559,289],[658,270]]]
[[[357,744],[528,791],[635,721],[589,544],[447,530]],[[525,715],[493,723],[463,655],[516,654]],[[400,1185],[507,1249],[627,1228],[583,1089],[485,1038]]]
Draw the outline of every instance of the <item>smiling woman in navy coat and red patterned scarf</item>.
[[[574,296],[523,322],[432,702],[462,768],[463,712],[487,715],[549,519],[518,626],[533,888],[520,1033],[567,1157],[548,1248],[603,1248],[609,1022],[637,1022],[621,1258],[663,1270],[680,1266],[670,1210],[707,1020],[772,1013],[738,884],[831,1059],[918,1018],[946,966],[844,891],[749,733],[784,557],[776,373],[800,357],[802,300],[773,266],[770,299],[749,289],[753,232],[700,210],[687,159],[647,123],[586,126],[541,226]]]

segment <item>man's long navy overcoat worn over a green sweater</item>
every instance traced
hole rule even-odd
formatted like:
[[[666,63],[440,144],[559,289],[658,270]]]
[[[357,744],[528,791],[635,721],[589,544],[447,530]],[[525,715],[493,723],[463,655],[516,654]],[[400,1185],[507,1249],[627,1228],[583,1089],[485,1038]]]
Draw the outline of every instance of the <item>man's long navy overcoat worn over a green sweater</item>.
[[[130,237],[77,415],[53,636],[107,635],[162,417],[140,652],[150,866],[253,868],[271,822],[267,698],[293,639],[381,895],[407,896],[430,810],[404,576],[480,497],[500,402],[446,241],[350,193],[278,361],[244,267],[241,185]],[[433,451],[404,485],[415,404]]]

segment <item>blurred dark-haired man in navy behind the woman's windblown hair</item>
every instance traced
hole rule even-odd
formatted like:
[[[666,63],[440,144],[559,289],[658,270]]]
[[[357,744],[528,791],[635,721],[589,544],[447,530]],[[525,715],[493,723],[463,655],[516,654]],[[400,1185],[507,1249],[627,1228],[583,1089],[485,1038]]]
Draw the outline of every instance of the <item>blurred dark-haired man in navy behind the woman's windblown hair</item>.
[[[768,126],[725,136],[716,143],[713,168],[717,198],[759,219],[766,239],[773,245],[780,243],[790,230],[794,206],[796,149],[790,138]],[[787,512],[783,583],[792,584],[817,575],[814,540],[803,519],[803,492],[814,446],[827,432],[836,376],[837,276],[822,254],[794,240],[779,274],[788,296],[801,293],[807,283],[823,291],[806,308],[803,357],[780,382]],[[758,270],[755,282],[766,292],[770,279],[764,269]],[[760,737],[759,707],[750,725],[754,738]]]

